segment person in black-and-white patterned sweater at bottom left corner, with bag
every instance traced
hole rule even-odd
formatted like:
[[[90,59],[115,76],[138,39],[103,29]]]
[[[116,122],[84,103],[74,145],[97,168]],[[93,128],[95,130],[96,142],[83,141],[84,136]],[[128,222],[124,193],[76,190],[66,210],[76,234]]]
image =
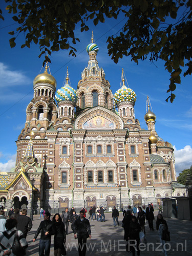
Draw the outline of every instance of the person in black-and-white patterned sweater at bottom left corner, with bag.
[[[13,242],[15,239],[20,244],[20,250],[22,250],[23,255],[25,255],[25,250],[28,247],[28,243],[24,237],[22,231],[16,229],[17,220],[15,218],[10,218],[6,221],[6,230],[0,236],[0,255],[10,255],[15,254],[12,251]],[[22,252],[20,252],[22,254]]]

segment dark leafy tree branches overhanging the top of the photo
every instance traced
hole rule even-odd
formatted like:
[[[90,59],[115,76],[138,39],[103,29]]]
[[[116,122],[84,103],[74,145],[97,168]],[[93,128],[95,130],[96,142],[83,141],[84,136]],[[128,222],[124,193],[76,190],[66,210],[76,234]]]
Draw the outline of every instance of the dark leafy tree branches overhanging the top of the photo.
[[[69,55],[76,56],[74,45],[79,41],[75,37],[76,24],[81,31],[88,31],[87,22],[93,19],[104,23],[105,18],[125,16],[122,29],[111,35],[108,53],[115,63],[119,58],[131,55],[138,63],[147,56],[154,62],[162,59],[165,69],[170,73],[169,97],[173,102],[176,84],[192,72],[192,0],[5,0],[7,10],[13,13],[18,23],[10,39],[11,48],[15,39],[24,33],[25,42],[21,46],[29,47],[32,42],[39,44],[40,55],[46,56],[59,49],[70,49]],[[3,18],[0,12],[0,18]],[[185,67],[185,69],[184,69]]]

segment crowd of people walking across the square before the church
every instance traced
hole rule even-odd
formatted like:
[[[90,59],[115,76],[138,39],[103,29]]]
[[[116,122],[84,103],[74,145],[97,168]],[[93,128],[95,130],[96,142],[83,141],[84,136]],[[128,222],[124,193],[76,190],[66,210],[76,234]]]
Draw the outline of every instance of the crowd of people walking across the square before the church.
[[[78,254],[79,256],[86,255],[87,239],[91,239],[91,227],[90,222],[95,218],[96,221],[104,222],[103,206],[99,207],[94,205],[89,209],[89,218],[86,219],[87,209],[82,208],[77,215],[75,208],[72,207],[69,211],[66,207],[65,211],[60,215],[55,214],[51,218],[50,212],[45,212],[44,209],[40,209],[41,215],[44,216],[44,220],[40,222],[38,229],[35,232],[33,242],[36,241],[39,233],[39,256],[50,255],[51,247],[51,236],[54,235],[54,256],[66,255],[66,236],[69,233],[69,223],[71,223],[71,229],[74,233],[74,239],[78,239]],[[123,209],[122,209],[123,210]],[[27,216],[27,209],[11,208],[8,212],[9,219],[5,218],[4,210],[0,210],[0,256],[4,255],[25,255],[25,250],[28,247],[26,241],[27,234],[32,228],[32,221]],[[119,226],[119,211],[114,206],[112,211],[113,224],[116,227]],[[153,220],[154,217],[154,207],[152,204],[148,204],[145,209],[145,205],[142,207],[134,205],[133,209],[129,205],[126,210],[123,210],[123,220],[122,227],[124,228],[124,240],[126,243],[126,251],[132,252],[133,256],[137,251],[137,255],[140,255],[139,244],[141,243],[141,233],[142,238],[145,238],[145,219],[148,221],[148,226],[150,230],[154,231]],[[158,236],[162,246],[166,243],[165,238],[163,238],[164,231],[168,232],[168,226],[166,221],[162,216],[162,206],[159,204],[159,213],[156,221],[156,229],[158,230]],[[15,239],[18,240],[20,244],[20,251],[18,254],[14,254],[14,243]],[[132,241],[130,243],[130,241]],[[134,243],[133,243],[134,241]],[[143,242],[143,240],[142,240]],[[135,247],[136,245],[136,247]],[[167,251],[163,247],[163,252],[167,256]]]

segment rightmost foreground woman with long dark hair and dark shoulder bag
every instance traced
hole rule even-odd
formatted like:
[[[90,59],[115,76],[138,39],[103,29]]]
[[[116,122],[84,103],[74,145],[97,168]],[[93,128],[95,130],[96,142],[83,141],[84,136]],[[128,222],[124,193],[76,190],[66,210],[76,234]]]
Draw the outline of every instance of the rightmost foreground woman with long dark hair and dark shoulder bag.
[[[157,215],[157,221],[156,221],[156,229],[158,230],[158,235],[160,239],[160,243],[163,247],[163,253],[165,256],[167,256],[167,250],[166,250],[166,241],[162,239],[163,230],[168,230],[168,226],[166,221],[163,219],[162,214]]]

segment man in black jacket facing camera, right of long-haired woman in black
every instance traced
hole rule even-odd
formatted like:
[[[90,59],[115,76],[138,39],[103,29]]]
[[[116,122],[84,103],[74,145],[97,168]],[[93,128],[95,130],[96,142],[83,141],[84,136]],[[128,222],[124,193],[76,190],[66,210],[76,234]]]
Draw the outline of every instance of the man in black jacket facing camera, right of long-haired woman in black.
[[[80,210],[80,217],[75,220],[73,225],[74,238],[78,239],[79,256],[86,256],[87,238],[91,239],[91,227],[89,220],[83,217],[84,212]]]

